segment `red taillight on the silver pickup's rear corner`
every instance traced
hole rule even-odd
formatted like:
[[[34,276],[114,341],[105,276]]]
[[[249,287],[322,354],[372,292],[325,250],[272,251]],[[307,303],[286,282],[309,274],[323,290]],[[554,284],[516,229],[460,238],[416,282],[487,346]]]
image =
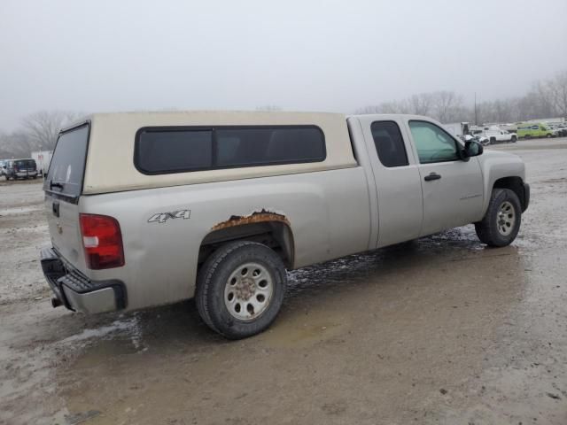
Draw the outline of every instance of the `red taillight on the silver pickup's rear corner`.
[[[97,214],[80,214],[80,220],[87,267],[101,270],[124,266],[124,249],[118,221]]]

